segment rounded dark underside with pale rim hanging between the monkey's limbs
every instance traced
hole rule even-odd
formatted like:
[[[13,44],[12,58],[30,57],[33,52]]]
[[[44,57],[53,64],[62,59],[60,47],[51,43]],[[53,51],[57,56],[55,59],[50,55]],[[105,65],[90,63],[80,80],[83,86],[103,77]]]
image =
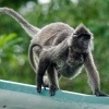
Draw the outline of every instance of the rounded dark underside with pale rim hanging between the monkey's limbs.
[[[57,72],[61,74],[64,77],[75,77],[81,73],[83,64],[74,65],[74,66],[69,66],[68,64],[64,64],[62,68],[57,68]]]

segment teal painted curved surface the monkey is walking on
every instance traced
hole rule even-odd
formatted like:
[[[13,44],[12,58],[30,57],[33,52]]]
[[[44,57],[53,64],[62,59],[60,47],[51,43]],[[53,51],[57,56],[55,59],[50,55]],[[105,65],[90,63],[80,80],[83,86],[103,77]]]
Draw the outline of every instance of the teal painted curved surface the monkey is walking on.
[[[96,97],[48,89],[36,93],[36,86],[0,80],[0,109],[109,109],[109,97]]]

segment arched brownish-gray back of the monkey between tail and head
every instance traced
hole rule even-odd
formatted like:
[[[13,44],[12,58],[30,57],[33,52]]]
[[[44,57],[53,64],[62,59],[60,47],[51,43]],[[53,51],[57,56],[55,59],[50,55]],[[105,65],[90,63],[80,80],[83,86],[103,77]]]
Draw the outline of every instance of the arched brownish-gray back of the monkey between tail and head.
[[[40,29],[37,33],[36,37],[32,40],[33,43],[37,43],[41,46],[53,46],[58,45],[64,38],[69,37],[73,33],[73,28],[68,24],[58,22],[51,23]]]

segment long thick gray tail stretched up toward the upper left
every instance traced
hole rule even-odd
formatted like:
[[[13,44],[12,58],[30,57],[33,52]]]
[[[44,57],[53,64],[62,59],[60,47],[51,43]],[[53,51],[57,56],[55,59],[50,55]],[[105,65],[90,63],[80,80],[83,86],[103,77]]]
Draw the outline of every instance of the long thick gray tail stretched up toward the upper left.
[[[0,14],[8,14],[16,20],[17,23],[25,29],[25,32],[31,36],[34,37],[38,32],[39,28],[31,25],[24,17],[22,17],[17,12],[9,8],[0,8]]]

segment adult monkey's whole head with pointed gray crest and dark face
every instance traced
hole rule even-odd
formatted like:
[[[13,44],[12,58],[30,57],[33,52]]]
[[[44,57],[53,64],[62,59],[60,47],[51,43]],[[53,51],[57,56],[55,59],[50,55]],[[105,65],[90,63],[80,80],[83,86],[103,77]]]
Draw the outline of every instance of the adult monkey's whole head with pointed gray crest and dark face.
[[[70,40],[70,48],[77,52],[87,52],[93,46],[93,34],[83,24],[78,25]]]

